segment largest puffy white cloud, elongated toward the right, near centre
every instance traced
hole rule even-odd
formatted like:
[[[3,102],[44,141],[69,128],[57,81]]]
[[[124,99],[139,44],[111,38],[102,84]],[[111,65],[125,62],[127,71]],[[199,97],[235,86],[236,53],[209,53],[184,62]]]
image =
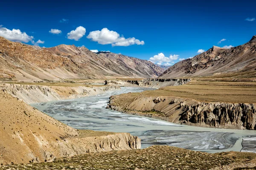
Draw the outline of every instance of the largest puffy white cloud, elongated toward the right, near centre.
[[[110,31],[108,28],[102,28],[101,31],[91,31],[87,36],[88,39],[98,42],[99,44],[111,44],[112,46],[129,46],[129,45],[144,45],[144,41],[132,38],[120,37],[116,31]]]

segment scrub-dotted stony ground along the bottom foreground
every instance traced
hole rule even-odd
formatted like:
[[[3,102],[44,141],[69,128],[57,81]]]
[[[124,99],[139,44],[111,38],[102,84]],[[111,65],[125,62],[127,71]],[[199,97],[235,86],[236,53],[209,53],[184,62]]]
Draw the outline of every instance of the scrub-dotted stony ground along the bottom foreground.
[[[152,146],[143,150],[88,153],[47,163],[6,165],[0,166],[0,170],[241,170],[240,167],[256,168],[255,158],[254,153],[211,154]]]

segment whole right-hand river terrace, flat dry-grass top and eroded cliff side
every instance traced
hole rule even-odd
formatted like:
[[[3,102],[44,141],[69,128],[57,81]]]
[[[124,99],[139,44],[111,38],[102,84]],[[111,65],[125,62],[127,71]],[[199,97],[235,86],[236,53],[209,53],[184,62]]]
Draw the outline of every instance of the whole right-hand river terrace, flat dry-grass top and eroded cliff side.
[[[108,108],[177,124],[256,128],[255,82],[189,82],[154,91],[111,96]]]

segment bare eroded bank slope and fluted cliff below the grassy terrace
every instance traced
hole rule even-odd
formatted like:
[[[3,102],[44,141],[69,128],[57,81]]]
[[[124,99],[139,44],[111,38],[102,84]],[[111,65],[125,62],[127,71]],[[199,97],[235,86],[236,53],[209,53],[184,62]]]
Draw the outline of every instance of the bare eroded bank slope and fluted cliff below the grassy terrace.
[[[111,96],[108,108],[177,124],[256,130],[256,104],[198,102],[172,96]]]

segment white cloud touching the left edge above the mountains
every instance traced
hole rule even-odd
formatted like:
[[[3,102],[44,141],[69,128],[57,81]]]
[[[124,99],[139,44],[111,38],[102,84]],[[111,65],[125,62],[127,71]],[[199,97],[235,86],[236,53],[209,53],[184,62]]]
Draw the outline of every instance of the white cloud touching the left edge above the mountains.
[[[33,36],[29,36],[26,32],[21,32],[19,29],[9,30],[8,28],[4,28],[0,26],[0,36],[6,38],[10,41],[18,41],[18,42],[29,42],[34,39]]]

